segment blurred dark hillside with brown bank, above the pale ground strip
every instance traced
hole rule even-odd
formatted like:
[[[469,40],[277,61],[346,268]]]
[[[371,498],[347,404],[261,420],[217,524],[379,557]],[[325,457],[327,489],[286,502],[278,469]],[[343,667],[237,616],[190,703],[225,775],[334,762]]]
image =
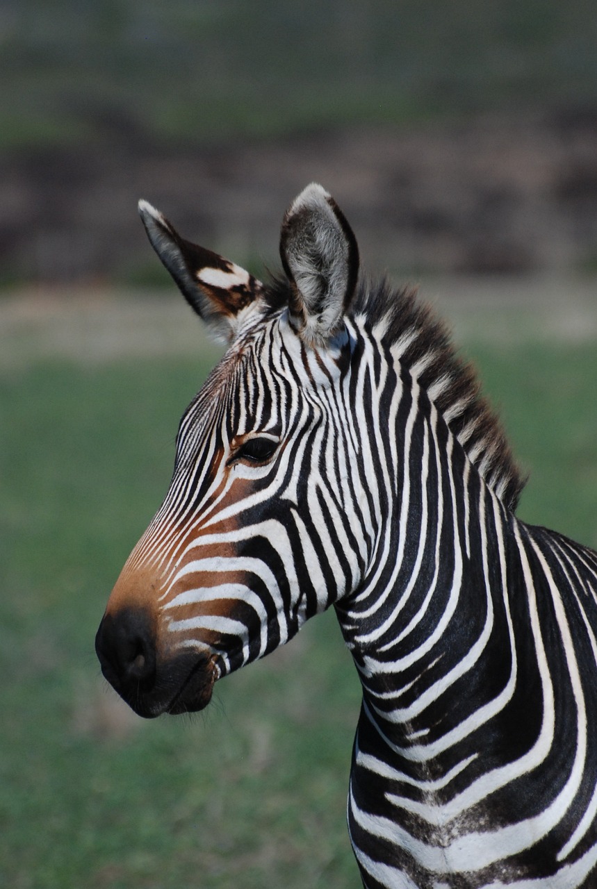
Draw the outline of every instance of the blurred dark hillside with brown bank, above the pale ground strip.
[[[597,266],[591,4],[4,0],[0,49],[0,283],[147,283],[140,196],[259,267],[310,180],[367,265]]]

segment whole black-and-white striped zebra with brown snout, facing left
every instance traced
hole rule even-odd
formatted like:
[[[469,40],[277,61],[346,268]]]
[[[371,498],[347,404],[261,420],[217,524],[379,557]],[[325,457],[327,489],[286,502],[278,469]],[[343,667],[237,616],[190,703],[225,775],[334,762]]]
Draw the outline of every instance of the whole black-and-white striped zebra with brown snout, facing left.
[[[315,183],[267,284],[139,209],[228,348],[109,597],[104,677],[142,717],[200,710],[334,605],[363,885],[597,885],[597,553],[516,517],[524,479],[444,325],[359,273]]]

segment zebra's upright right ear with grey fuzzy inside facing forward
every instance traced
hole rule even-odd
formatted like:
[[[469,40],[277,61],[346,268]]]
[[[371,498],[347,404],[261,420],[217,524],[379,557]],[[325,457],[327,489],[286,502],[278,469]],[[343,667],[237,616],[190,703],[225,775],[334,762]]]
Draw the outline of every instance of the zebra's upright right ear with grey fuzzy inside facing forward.
[[[292,284],[290,313],[309,345],[338,332],[359,274],[357,240],[332,196],[311,183],[286,211],[280,256]]]

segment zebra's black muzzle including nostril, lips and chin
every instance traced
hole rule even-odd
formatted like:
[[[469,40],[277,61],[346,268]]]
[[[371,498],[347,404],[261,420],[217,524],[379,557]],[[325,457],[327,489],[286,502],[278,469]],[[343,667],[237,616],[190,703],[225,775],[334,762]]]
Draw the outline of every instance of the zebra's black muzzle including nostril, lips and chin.
[[[159,653],[149,618],[132,608],[104,615],[95,651],[103,676],[146,719],[204,709],[220,675],[217,655],[207,649]]]

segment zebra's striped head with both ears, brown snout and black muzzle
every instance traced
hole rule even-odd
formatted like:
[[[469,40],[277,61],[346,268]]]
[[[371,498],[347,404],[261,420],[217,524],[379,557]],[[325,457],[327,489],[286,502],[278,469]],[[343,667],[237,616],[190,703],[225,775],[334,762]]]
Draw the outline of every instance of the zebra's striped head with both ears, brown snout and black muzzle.
[[[315,184],[286,212],[285,277],[269,285],[184,240],[146,202],[139,209],[183,295],[228,345],[182,417],[169,491],[96,638],[104,676],[153,717],[202,709],[217,678],[286,643],[359,582],[367,554],[347,547],[350,529],[330,530],[351,515],[341,481],[358,450],[346,428],[345,313],[359,252]],[[352,485],[350,496],[362,494]]]

